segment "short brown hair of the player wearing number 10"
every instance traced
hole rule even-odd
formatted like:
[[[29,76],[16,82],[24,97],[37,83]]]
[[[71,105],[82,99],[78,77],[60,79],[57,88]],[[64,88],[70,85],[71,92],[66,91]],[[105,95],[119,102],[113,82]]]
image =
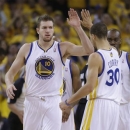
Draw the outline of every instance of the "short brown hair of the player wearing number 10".
[[[40,16],[40,17],[38,18],[37,23],[36,23],[36,26],[37,26],[38,28],[40,27],[41,21],[45,21],[45,22],[46,22],[46,21],[52,21],[52,22],[54,23],[53,18],[50,17],[50,16],[47,15],[47,14],[44,14],[44,15],[42,15],[42,16]]]

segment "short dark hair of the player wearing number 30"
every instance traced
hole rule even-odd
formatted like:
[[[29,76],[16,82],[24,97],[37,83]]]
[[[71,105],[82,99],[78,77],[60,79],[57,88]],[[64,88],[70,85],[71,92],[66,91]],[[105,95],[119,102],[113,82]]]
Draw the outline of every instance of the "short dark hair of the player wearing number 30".
[[[96,35],[99,39],[107,38],[107,26],[102,22],[96,23],[91,27],[90,33]]]

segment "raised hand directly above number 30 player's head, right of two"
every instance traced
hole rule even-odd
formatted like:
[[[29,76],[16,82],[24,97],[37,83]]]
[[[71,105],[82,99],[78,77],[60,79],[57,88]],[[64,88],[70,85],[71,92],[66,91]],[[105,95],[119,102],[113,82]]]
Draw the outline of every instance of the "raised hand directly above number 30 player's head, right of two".
[[[92,19],[91,19],[89,11],[86,10],[86,9],[85,10],[82,9],[82,11],[81,11],[81,17],[82,17],[81,24],[84,27],[90,29],[91,26],[93,25],[93,23],[92,23]]]

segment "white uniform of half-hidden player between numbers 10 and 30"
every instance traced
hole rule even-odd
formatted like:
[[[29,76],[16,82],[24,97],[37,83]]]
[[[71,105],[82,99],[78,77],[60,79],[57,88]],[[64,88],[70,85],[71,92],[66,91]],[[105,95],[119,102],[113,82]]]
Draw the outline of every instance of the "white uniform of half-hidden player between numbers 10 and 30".
[[[63,87],[62,101],[65,101],[66,99],[70,98],[72,94],[73,94],[73,86],[72,86],[71,60],[67,59],[64,68],[64,87]],[[61,130],[75,130],[73,110],[71,110],[67,122],[62,123]]]

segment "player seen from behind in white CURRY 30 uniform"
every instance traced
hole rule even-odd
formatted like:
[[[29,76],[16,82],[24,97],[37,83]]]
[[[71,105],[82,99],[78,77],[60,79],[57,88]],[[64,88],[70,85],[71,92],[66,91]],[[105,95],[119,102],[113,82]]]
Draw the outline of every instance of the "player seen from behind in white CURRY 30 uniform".
[[[88,59],[87,82],[71,98],[60,103],[64,111],[75,101],[88,95],[81,130],[117,130],[120,103],[121,67],[116,49],[107,41],[107,27],[94,24],[90,39],[97,52]]]

